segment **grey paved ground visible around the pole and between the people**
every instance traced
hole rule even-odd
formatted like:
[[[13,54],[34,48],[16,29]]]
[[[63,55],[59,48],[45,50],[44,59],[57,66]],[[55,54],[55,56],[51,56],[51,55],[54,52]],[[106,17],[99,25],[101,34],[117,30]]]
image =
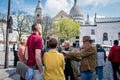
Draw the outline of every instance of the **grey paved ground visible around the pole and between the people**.
[[[4,52],[0,52],[0,80],[20,80],[20,76],[16,74],[16,68],[13,67],[13,53],[9,53],[9,68],[4,69]],[[113,80],[113,72],[111,63],[107,60],[103,68],[103,80]],[[119,76],[120,77],[120,76]],[[96,80],[97,75],[94,73],[93,80]],[[79,80],[83,80],[81,77]]]

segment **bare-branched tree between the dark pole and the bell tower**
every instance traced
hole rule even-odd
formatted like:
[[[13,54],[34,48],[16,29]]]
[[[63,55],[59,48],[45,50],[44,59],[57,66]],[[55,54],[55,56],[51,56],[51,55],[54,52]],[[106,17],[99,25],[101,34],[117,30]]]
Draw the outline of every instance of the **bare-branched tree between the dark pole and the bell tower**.
[[[13,13],[14,30],[18,33],[18,41],[20,41],[23,34],[31,33],[31,25],[33,23],[33,16],[27,15],[23,11]]]

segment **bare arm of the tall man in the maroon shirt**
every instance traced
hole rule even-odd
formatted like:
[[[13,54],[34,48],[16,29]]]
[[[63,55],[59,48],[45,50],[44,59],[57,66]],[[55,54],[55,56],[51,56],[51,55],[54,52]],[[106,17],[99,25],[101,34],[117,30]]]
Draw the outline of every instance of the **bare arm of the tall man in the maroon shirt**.
[[[39,68],[39,71],[42,73],[42,59],[41,59],[41,49],[35,49],[35,60]]]

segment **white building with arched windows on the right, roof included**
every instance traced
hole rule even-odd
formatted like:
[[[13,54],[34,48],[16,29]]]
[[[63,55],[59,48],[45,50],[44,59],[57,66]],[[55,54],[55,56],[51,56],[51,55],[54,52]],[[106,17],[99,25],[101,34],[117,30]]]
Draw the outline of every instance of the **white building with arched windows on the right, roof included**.
[[[93,43],[103,45],[113,45],[114,40],[120,41],[120,17],[97,18],[94,24],[84,24],[80,27],[80,45],[82,37],[91,36]]]

